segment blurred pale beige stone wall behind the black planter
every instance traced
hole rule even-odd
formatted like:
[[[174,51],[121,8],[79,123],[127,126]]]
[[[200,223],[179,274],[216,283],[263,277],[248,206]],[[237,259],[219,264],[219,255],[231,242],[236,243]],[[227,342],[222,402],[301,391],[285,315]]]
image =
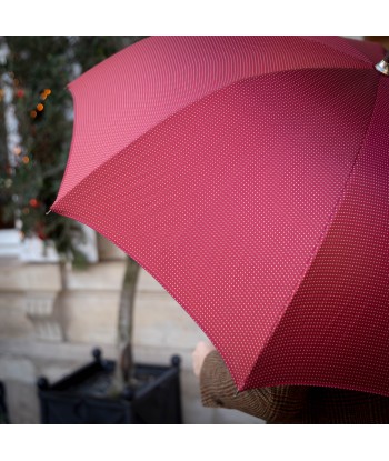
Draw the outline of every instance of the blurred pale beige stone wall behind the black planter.
[[[99,237],[100,261],[87,271],[56,263],[0,260],[0,380],[12,423],[38,423],[36,381],[50,381],[91,360],[93,347],[116,358],[123,254]],[[134,358],[168,364],[182,358],[186,423],[260,423],[243,413],[201,405],[191,352],[206,339],[186,311],[144,270],[136,294]]]

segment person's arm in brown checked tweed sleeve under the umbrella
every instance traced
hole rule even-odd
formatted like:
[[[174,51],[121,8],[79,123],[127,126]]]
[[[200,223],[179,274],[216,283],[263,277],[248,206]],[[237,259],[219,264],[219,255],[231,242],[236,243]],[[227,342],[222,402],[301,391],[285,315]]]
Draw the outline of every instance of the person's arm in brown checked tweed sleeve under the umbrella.
[[[306,405],[307,387],[251,389],[237,394],[231,374],[216,350],[203,358],[199,379],[205,407],[235,409],[272,423],[297,423]]]

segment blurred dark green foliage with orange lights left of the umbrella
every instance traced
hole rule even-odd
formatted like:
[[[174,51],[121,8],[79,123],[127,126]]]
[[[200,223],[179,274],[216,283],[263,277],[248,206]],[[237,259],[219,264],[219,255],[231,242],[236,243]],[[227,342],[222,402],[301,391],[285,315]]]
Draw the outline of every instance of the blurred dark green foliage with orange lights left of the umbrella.
[[[2,37],[8,48],[0,64],[2,87],[12,90],[20,146],[4,152],[4,116],[0,106],[0,207],[2,222],[19,219],[23,235],[53,241],[73,267],[86,264],[78,250],[81,226],[56,213],[54,202],[63,176],[72,133],[72,100],[67,84],[79,73],[142,37]],[[0,87],[0,104],[4,88]],[[1,110],[2,109],[2,110]]]

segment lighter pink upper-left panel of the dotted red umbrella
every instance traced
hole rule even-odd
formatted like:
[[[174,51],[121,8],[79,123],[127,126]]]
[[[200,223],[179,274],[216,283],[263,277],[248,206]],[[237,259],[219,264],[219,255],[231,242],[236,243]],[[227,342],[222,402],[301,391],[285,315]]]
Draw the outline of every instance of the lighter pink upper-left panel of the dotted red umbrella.
[[[174,111],[237,80],[312,66],[371,67],[357,50],[335,50],[339,41],[150,37],[128,47],[69,84],[77,122],[58,198]],[[73,159],[72,152],[79,154]]]

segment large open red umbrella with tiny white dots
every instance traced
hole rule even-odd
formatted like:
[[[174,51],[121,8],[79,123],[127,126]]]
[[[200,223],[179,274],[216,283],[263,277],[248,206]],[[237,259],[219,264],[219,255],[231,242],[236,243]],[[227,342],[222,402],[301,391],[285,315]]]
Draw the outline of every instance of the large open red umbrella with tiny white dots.
[[[239,390],[389,395],[383,53],[336,37],[142,40],[70,83],[51,210],[154,277]]]

